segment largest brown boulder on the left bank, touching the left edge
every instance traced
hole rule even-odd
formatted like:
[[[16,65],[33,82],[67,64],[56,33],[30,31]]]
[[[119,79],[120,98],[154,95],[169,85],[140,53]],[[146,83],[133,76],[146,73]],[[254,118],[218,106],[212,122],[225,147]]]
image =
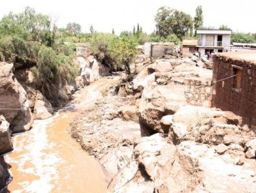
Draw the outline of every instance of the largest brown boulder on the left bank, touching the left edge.
[[[12,73],[12,63],[0,63],[0,114],[10,123],[12,132],[30,130],[33,116],[26,91]]]

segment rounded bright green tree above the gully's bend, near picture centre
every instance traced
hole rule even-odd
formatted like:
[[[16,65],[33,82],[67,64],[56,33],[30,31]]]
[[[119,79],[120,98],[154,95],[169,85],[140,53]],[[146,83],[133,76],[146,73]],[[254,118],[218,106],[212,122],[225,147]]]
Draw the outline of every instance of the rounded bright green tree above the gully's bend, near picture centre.
[[[131,74],[130,63],[136,56],[137,43],[130,37],[116,37],[109,43],[108,52],[114,59],[115,68],[125,67],[128,74]]]

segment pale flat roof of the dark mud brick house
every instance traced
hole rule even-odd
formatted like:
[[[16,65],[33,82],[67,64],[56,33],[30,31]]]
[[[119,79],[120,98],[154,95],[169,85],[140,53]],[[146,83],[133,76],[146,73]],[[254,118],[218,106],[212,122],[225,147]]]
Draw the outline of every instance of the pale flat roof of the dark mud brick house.
[[[230,59],[250,61],[256,64],[256,51],[223,52],[223,53],[217,53],[216,55],[218,57],[228,57]]]

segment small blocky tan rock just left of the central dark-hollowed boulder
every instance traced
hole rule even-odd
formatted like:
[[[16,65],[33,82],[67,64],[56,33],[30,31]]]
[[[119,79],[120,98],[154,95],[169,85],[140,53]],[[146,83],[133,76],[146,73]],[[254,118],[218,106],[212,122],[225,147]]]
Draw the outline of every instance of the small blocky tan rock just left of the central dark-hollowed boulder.
[[[138,107],[136,105],[125,105],[120,108],[120,114],[125,121],[138,122]]]

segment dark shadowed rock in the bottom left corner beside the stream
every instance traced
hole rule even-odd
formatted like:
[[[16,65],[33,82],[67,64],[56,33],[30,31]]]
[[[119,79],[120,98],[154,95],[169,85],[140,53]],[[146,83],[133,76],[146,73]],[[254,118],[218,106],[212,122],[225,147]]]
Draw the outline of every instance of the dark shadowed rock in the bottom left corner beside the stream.
[[[10,174],[3,157],[0,156],[0,192],[8,192],[6,186],[10,183]]]

